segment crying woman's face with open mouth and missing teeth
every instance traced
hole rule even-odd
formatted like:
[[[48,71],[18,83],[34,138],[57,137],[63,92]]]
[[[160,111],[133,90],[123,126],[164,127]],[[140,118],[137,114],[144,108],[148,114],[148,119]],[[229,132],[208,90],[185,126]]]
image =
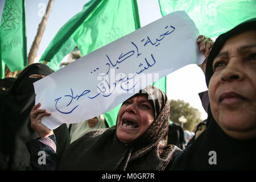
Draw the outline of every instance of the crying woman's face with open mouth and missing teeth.
[[[155,120],[154,109],[147,96],[125,101],[117,118],[117,137],[124,143],[141,136]]]

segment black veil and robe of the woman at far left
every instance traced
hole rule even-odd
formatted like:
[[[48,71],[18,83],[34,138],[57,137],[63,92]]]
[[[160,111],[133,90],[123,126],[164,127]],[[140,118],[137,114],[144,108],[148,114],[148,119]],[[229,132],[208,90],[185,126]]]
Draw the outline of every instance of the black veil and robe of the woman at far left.
[[[49,75],[53,71],[42,63],[31,64],[16,78],[13,86],[3,98],[0,106],[0,169],[27,170],[30,168],[30,154],[26,144],[28,140],[38,138],[31,129],[30,112],[35,105],[33,82],[40,78],[30,78],[30,75]],[[58,154],[69,144],[66,125],[55,131],[59,140]]]

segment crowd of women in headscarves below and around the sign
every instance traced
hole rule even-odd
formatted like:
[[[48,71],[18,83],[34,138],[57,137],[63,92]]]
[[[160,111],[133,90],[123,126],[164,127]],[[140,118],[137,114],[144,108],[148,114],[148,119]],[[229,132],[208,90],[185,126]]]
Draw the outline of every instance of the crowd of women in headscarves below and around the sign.
[[[50,130],[35,103],[33,82],[53,71],[36,63],[0,87],[2,170],[246,170],[256,169],[256,19],[218,36],[197,38],[208,91],[200,93],[208,118],[195,135],[169,124],[170,104],[148,85],[122,103],[115,126],[103,115]],[[154,94],[158,93],[158,98]],[[46,163],[39,163],[39,151]]]

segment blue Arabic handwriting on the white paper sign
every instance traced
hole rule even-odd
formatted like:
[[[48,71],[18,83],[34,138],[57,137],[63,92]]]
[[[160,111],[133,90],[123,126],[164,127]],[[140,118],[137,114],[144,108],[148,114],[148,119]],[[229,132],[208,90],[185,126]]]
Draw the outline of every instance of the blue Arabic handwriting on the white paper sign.
[[[167,29],[168,27],[169,26],[166,26],[165,28]],[[172,32],[174,32],[175,27],[170,26],[170,28],[172,29],[171,31],[168,30],[164,34],[161,34],[159,36],[159,38],[155,39],[155,42],[152,42],[150,37],[147,36],[146,42],[143,44],[143,46],[145,47],[145,46],[147,46],[148,43],[150,43],[152,46],[158,47],[159,44],[160,44],[160,41],[162,41],[167,35],[170,35]],[[144,40],[145,39],[142,39],[141,42],[144,42]],[[102,73],[98,74],[98,76],[100,76],[100,77],[107,76],[109,74],[109,72],[110,72],[110,67],[118,69],[119,67],[115,67],[115,66],[121,64],[123,61],[125,61],[129,57],[133,56],[135,52],[137,53],[137,57],[140,56],[142,53],[139,52],[138,46],[134,42],[131,42],[131,44],[135,47],[135,51],[131,50],[131,51],[126,52],[126,53],[121,52],[121,54],[118,57],[118,60],[112,61],[112,60],[110,60],[109,55],[106,55],[106,59],[107,59],[107,63],[105,64],[106,65],[106,72],[103,73],[103,74]],[[68,107],[69,105],[72,104],[72,102],[74,102],[74,100],[78,101],[79,98],[81,98],[83,96],[86,96],[86,98],[89,98],[89,99],[96,98],[96,97],[98,97],[100,95],[103,96],[103,97],[109,97],[114,92],[114,90],[115,90],[115,88],[117,87],[118,84],[120,85],[120,88],[122,90],[125,90],[125,91],[129,91],[129,90],[135,88],[135,86],[138,84],[138,81],[135,82],[135,83],[132,82],[132,84],[130,84],[131,86],[128,85],[130,83],[129,81],[131,79],[133,79],[135,76],[140,75],[142,72],[144,72],[148,68],[151,68],[151,67],[153,67],[155,65],[156,60],[155,60],[155,57],[153,56],[152,53],[151,53],[151,58],[152,58],[152,61],[148,61],[146,59],[146,57],[144,57],[144,61],[146,62],[146,65],[143,67],[143,63],[139,63],[138,68],[141,68],[141,69],[139,71],[137,71],[136,73],[134,73],[130,77],[128,77],[125,74],[123,74],[121,76],[121,78],[118,79],[118,81],[113,82],[111,84],[106,79],[101,81],[100,84],[97,85],[98,93],[95,96],[89,96],[88,94],[91,92],[91,90],[85,89],[85,90],[83,90],[83,92],[81,94],[78,94],[78,95],[76,95],[74,97],[73,90],[71,88],[71,94],[65,95],[64,97],[58,97],[58,98],[55,99],[56,110],[59,111],[60,113],[63,113],[63,114],[70,114],[79,106],[79,105],[73,106],[71,109],[67,109],[68,111],[60,110],[59,106],[58,106],[58,103],[63,98],[69,98],[70,99],[66,106],[62,106],[62,107]],[[96,68],[91,73],[94,73],[94,72],[96,72],[98,70],[99,70],[99,68]]]

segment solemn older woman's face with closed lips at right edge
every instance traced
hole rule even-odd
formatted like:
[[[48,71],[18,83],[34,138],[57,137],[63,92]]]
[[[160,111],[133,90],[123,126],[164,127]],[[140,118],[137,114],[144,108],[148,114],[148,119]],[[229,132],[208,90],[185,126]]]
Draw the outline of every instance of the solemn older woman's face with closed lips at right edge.
[[[212,114],[230,137],[256,137],[256,31],[226,41],[213,61],[209,82]]]

